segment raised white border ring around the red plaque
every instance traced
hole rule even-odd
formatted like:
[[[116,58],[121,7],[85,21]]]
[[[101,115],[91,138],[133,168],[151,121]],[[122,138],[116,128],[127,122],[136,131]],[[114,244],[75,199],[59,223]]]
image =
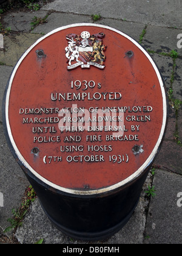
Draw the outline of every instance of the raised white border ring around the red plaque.
[[[126,37],[128,40],[132,41],[132,43],[135,44],[135,46],[137,46],[146,55],[147,59],[149,59],[150,63],[152,64],[153,69],[155,69],[155,73],[157,74],[158,80],[160,82],[161,93],[163,95],[163,124],[162,124],[162,127],[161,127],[161,132],[160,132],[160,136],[158,138],[158,141],[157,141],[155,147],[153,148],[153,151],[150,154],[149,158],[147,158],[146,162],[144,162],[144,164],[136,172],[134,172],[131,176],[127,177],[127,179],[122,180],[121,182],[118,182],[115,185],[112,185],[110,187],[101,188],[101,189],[98,189],[98,190],[91,190],[91,191],[82,191],[82,190],[79,191],[79,190],[72,190],[72,189],[69,189],[69,188],[64,188],[64,187],[55,185],[54,183],[50,182],[49,180],[47,180],[44,177],[42,177],[41,175],[39,175],[29,165],[29,163],[27,163],[27,161],[24,159],[24,157],[22,157],[21,153],[19,152],[19,150],[18,150],[18,148],[15,144],[15,141],[13,140],[12,130],[10,128],[10,123],[9,123],[9,120],[8,120],[8,105],[9,105],[10,91],[11,91],[11,88],[12,88],[12,83],[13,83],[13,79],[15,77],[16,71],[19,68],[19,66],[21,65],[22,60],[24,60],[24,58],[36,46],[36,44],[38,44],[39,42],[41,42],[45,38],[49,37],[50,35],[55,34],[56,32],[59,32],[59,31],[64,30],[64,29],[69,29],[70,27],[79,27],[79,26],[102,27],[104,29],[112,30],[112,31],[122,35],[123,37]],[[160,72],[158,71],[158,68],[155,65],[155,63],[153,62],[152,58],[144,50],[144,48],[139,43],[137,43],[135,40],[133,40],[133,38],[129,37],[129,35],[124,34],[120,30],[113,29],[112,27],[108,27],[108,26],[104,26],[104,25],[100,25],[100,24],[92,24],[92,23],[71,24],[71,25],[68,25],[68,26],[59,27],[58,29],[53,30],[49,34],[45,35],[44,37],[39,38],[39,40],[36,41],[36,43],[34,43],[32,46],[30,46],[30,48],[27,49],[27,51],[24,53],[24,55],[22,55],[21,59],[16,64],[15,69],[13,70],[13,73],[12,73],[12,76],[10,78],[10,82],[9,82],[9,85],[8,85],[7,96],[6,96],[6,100],[5,100],[5,119],[6,119],[6,124],[7,124],[8,135],[9,135],[10,141],[12,143],[12,146],[13,146],[15,152],[16,152],[16,155],[18,156],[19,160],[21,160],[21,162],[25,165],[25,167],[28,168],[38,179],[42,180],[42,182],[46,183],[50,187],[53,187],[57,190],[60,190],[60,191],[66,192],[66,193],[70,193],[70,194],[81,194],[81,195],[99,194],[99,193],[104,193],[104,192],[108,192],[108,191],[111,191],[111,190],[115,190],[116,188],[119,188],[119,187],[125,185],[126,183],[130,182],[131,180],[135,179],[152,162],[153,158],[155,157],[155,155],[158,152],[158,148],[159,148],[159,146],[161,144],[161,141],[163,139],[164,130],[165,130],[165,127],[166,127],[166,121],[167,121],[166,92],[165,92],[165,89],[164,89],[164,84],[163,84],[163,80],[161,78]]]

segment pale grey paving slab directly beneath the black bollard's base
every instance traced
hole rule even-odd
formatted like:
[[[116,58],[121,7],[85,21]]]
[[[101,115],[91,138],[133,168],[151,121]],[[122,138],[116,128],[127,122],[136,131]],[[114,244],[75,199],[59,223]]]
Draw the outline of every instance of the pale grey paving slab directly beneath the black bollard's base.
[[[140,201],[138,202],[135,212],[118,233],[107,240],[92,241],[93,244],[142,244],[144,240],[144,230],[146,226],[146,208],[148,201],[144,191],[150,184],[151,174],[147,177],[143,186]],[[33,227],[33,229],[32,229]],[[40,239],[44,239],[45,244],[88,244],[89,241],[81,241],[70,238],[57,230],[49,221],[39,204],[38,199],[32,203],[32,211],[24,219],[21,227],[15,233],[19,243],[34,244]]]

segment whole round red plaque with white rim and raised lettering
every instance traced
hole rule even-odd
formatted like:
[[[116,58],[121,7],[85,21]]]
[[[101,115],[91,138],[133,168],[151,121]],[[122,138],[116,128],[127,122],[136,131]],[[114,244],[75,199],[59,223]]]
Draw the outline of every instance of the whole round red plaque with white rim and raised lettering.
[[[166,127],[163,80],[135,40],[73,24],[40,38],[8,85],[5,118],[19,160],[38,179],[96,194],[139,176]]]

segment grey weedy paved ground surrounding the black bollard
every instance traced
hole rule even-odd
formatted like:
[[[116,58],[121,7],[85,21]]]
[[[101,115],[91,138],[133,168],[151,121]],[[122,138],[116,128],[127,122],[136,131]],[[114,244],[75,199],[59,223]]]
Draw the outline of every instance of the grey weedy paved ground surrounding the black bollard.
[[[98,21],[92,14],[99,14]],[[33,26],[34,18],[44,19]],[[4,28],[4,51],[0,51],[0,102],[13,67],[24,51],[42,35],[73,23],[104,24],[130,35],[152,55],[169,92],[169,124],[166,137],[147,177],[135,212],[126,226],[108,240],[95,244],[182,243],[182,16],[180,0],[55,0],[38,11],[12,9],[1,15]],[[178,38],[177,38],[178,37]],[[179,46],[181,45],[181,48]],[[173,52],[173,54],[172,54]],[[177,52],[177,55],[174,53]],[[1,112],[1,110],[0,110]],[[8,149],[0,116],[0,243],[83,244],[55,229],[42,212],[38,199],[32,203],[22,226],[4,233],[12,218],[12,209],[21,206],[25,188],[30,184]],[[156,196],[147,197],[147,187],[155,186]],[[1,206],[1,205],[0,205]],[[93,242],[92,242],[93,243]]]

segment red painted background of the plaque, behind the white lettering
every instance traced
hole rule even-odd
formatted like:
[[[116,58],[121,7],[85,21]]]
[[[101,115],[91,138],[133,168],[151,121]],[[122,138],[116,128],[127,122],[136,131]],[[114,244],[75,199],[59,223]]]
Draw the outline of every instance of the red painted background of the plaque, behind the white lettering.
[[[90,66],[89,69],[81,69],[78,66],[75,69],[67,70],[67,59],[65,48],[68,45],[66,35],[75,33],[80,35],[83,31],[89,31],[90,35],[103,32],[104,45],[107,46],[105,51],[106,61],[105,68],[99,69]],[[45,57],[38,57],[36,51],[42,49]],[[132,57],[127,57],[126,52],[133,51]],[[76,62],[72,62],[76,63]],[[89,88],[85,91],[71,88],[72,81],[84,80],[95,81],[96,85],[101,83],[101,88]],[[52,93],[109,93],[117,92],[122,94],[118,101],[103,98],[99,101],[52,101]],[[113,94],[112,94],[113,95]],[[118,94],[119,95],[119,94]],[[58,129],[58,123],[23,124],[23,118],[60,118],[58,113],[48,113],[42,115],[20,114],[20,109],[25,108],[65,108],[84,107],[89,110],[90,107],[136,107],[151,106],[151,112],[125,112],[124,125],[128,131],[124,135],[138,135],[138,141],[106,141],[106,135],[112,135],[112,132],[61,132]],[[9,101],[9,121],[12,130],[13,140],[21,152],[22,157],[27,163],[42,177],[56,185],[64,188],[83,190],[84,188],[99,189],[108,187],[115,183],[121,182],[136,172],[147,158],[149,158],[158,137],[161,132],[163,123],[163,96],[161,93],[160,83],[152,64],[146,55],[132,41],[113,32],[112,30],[82,26],[70,27],[61,30],[55,34],[44,38],[39,42],[24,58],[12,83]],[[115,113],[116,114],[116,113]],[[121,113],[117,113],[120,115]],[[150,121],[126,121],[126,116],[150,116]],[[139,118],[141,119],[141,117]],[[42,119],[41,119],[42,120]],[[98,123],[99,124],[99,123]],[[97,124],[97,125],[98,125]],[[117,123],[115,123],[117,125]],[[134,132],[131,126],[140,125],[139,131]],[[53,126],[56,132],[50,133],[33,133],[33,127],[50,127]],[[35,128],[34,128],[35,129]],[[66,136],[80,136],[80,142],[64,142]],[[102,141],[86,141],[87,135],[101,135]],[[123,135],[123,136],[124,136]],[[60,136],[61,141],[56,143],[34,143],[34,137]],[[55,140],[55,139],[54,139]],[[60,146],[84,146],[83,152],[61,152]],[[105,151],[88,152],[87,146],[104,146]],[[134,155],[132,148],[143,145],[143,152]],[[109,147],[110,146],[110,147]],[[38,155],[33,154],[32,149],[38,148]],[[107,151],[109,148],[112,151]],[[126,163],[126,154],[129,161]],[[75,155],[98,155],[98,162],[67,162],[67,156]],[[102,157],[100,157],[103,156]],[[109,161],[110,155],[121,155],[124,161],[113,163]],[[46,158],[44,158],[46,156]],[[62,157],[62,162],[58,158]],[[43,162],[45,159],[46,163]],[[78,158],[75,158],[78,160]],[[54,161],[56,160],[56,161]],[[50,162],[50,164],[49,164]],[[118,158],[120,162],[120,158]],[[89,185],[89,187],[88,187]]]

